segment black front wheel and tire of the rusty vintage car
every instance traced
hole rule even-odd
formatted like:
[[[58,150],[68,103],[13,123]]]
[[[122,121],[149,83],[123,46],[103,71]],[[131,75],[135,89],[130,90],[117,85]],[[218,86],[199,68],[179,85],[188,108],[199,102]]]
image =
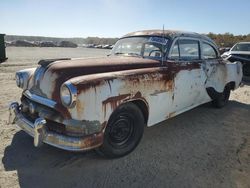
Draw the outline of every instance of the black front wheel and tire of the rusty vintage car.
[[[119,106],[111,115],[98,153],[107,158],[118,158],[132,152],[144,131],[144,117],[133,103]]]

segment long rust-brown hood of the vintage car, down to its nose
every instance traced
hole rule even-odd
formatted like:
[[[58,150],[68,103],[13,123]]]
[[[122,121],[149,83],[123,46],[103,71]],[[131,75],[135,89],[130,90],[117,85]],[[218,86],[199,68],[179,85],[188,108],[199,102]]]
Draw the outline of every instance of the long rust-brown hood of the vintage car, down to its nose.
[[[62,59],[58,61],[44,61],[39,63],[33,75],[33,82],[29,84],[32,93],[48,99],[60,101],[61,85],[76,76],[106,73],[122,70],[157,67],[158,60],[141,57],[104,57],[88,59]]]

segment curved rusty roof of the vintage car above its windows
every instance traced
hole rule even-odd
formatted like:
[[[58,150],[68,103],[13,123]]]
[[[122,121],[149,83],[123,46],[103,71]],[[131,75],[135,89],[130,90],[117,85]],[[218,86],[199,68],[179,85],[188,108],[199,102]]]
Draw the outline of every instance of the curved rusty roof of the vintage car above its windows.
[[[198,39],[203,39],[206,41],[209,41],[213,44],[214,41],[212,39],[210,39],[209,37],[207,37],[206,35],[202,35],[199,33],[195,33],[195,32],[188,32],[188,31],[179,31],[179,30],[142,30],[142,31],[135,31],[132,33],[128,33],[126,35],[124,35],[121,38],[126,38],[126,37],[135,37],[135,36],[166,36],[166,37],[170,37],[172,39],[176,38],[176,37],[192,37],[192,38],[198,38]]]

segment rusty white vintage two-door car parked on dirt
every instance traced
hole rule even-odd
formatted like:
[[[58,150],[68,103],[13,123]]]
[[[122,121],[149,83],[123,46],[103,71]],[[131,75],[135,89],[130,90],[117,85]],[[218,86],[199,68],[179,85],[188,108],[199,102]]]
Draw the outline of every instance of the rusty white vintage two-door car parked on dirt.
[[[16,72],[23,92],[10,123],[43,143],[69,151],[124,156],[145,126],[212,102],[225,106],[242,65],[223,60],[208,37],[183,31],[129,33],[103,58],[45,59]]]

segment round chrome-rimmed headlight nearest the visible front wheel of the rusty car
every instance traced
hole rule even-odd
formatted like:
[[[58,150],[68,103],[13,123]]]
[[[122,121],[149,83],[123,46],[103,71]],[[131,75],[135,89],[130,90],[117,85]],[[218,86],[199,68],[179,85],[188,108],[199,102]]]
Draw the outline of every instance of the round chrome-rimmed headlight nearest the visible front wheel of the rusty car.
[[[60,92],[62,104],[66,107],[74,107],[77,95],[76,88],[70,83],[65,83]]]

